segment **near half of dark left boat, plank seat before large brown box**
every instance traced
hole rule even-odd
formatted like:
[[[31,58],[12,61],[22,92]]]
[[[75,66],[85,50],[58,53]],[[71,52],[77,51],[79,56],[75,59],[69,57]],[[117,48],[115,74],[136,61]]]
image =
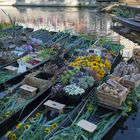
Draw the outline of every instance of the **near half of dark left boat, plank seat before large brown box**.
[[[52,85],[50,79],[51,76],[47,77],[46,80],[35,77],[34,74],[27,75],[24,80],[17,85],[13,86],[11,93],[8,90],[0,100],[1,103],[3,99],[8,99],[1,107],[5,105],[7,108],[5,111],[9,113],[7,117],[2,111],[5,108],[1,108],[1,119],[0,119],[0,135],[9,130],[17,120],[22,119],[28,115],[49,93],[50,87]],[[13,100],[13,101],[12,101]],[[6,106],[7,103],[13,103],[13,106]],[[13,108],[10,111],[10,108]],[[9,110],[9,111],[8,111]],[[7,126],[7,127],[5,127]]]

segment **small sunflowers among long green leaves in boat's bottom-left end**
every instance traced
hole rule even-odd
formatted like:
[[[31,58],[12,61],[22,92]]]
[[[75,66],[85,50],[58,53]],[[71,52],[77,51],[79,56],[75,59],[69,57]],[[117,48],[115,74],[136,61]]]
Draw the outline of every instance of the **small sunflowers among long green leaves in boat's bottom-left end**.
[[[8,131],[5,138],[11,140],[46,139],[46,137],[58,127],[58,124],[60,124],[64,118],[65,115],[62,114],[55,119],[48,121],[44,111],[38,112],[23,123],[17,124],[13,131]]]

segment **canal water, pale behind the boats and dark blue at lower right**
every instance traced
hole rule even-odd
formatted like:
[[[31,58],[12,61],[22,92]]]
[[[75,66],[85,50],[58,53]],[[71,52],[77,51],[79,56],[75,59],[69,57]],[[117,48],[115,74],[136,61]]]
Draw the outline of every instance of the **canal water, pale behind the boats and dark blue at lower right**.
[[[124,56],[131,56],[132,48],[136,44],[119,36],[110,30],[111,17],[107,14],[97,13],[94,9],[77,8],[15,8],[1,7],[11,15],[17,23],[35,29],[50,31],[71,30],[73,33],[96,34],[112,36],[126,46]],[[0,12],[0,22],[9,22],[9,19]],[[130,116],[126,121],[120,121],[109,132],[107,140],[139,140],[140,139],[140,112]],[[123,129],[123,131],[122,131]]]

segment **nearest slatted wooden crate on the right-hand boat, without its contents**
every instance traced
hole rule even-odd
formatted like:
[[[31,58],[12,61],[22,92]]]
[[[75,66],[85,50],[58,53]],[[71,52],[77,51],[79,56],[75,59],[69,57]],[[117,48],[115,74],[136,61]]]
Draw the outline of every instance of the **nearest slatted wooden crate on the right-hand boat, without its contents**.
[[[107,105],[110,107],[120,109],[122,103],[126,100],[126,97],[128,95],[129,90],[127,88],[121,86],[118,83],[118,86],[120,86],[121,88],[124,89],[123,90],[124,93],[122,94],[122,96],[115,96],[115,95],[111,95],[110,93],[103,92],[101,90],[101,88],[102,88],[102,86],[104,86],[104,84],[106,84],[106,83],[103,83],[100,87],[97,88],[97,90],[98,90],[98,93],[97,93],[98,102],[100,104],[104,104],[104,105]]]

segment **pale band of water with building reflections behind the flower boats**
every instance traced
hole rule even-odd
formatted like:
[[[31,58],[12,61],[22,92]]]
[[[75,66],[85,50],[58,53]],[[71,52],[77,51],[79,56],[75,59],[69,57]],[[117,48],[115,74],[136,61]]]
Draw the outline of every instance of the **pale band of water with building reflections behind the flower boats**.
[[[4,8],[5,11],[16,18],[22,25],[35,29],[63,31],[71,29],[79,33],[99,32],[110,34],[110,16],[98,14],[94,9],[77,8]],[[0,13],[0,21],[8,21],[5,15]]]

